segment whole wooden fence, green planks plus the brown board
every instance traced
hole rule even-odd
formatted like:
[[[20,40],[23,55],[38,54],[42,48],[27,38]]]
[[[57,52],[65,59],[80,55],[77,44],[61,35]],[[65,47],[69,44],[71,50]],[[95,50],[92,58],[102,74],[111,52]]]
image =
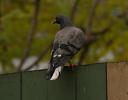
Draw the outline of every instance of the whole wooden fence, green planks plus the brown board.
[[[121,62],[64,69],[56,81],[45,70],[0,75],[0,100],[128,100],[127,73]]]

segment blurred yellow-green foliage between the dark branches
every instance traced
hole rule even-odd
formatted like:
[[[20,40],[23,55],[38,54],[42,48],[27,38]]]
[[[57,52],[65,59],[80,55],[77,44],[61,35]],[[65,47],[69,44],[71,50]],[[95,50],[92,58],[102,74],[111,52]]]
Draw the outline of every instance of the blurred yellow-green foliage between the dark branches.
[[[74,0],[41,0],[38,16],[38,28],[31,49],[31,56],[38,55],[41,50],[53,40],[58,30],[57,25],[51,24],[58,14],[70,16]],[[86,28],[89,11],[93,0],[79,0],[75,14],[74,24]],[[13,58],[21,58],[26,46],[27,34],[31,26],[34,0],[0,0],[0,62],[4,62],[7,69],[13,69]],[[84,63],[105,61],[101,58],[112,52],[113,59],[106,61],[119,61],[128,59],[128,25],[119,15],[126,13],[127,0],[101,0],[96,9],[92,30],[100,31],[110,23],[107,34],[93,43]],[[98,34],[98,33],[97,33]],[[44,61],[49,59],[49,52]],[[74,61],[78,61],[79,54]],[[7,70],[5,70],[7,71]]]

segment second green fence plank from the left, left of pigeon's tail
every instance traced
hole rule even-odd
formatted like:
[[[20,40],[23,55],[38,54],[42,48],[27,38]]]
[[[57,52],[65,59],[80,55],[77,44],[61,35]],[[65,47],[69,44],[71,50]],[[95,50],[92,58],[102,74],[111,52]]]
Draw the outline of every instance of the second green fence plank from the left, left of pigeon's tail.
[[[44,71],[24,72],[22,74],[23,100],[47,100],[47,83]]]

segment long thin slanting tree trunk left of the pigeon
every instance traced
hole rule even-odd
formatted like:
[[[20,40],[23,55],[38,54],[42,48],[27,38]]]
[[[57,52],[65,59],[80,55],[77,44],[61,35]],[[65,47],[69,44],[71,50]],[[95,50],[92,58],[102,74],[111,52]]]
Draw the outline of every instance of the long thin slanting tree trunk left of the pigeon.
[[[30,32],[28,33],[27,46],[25,48],[23,58],[21,59],[20,65],[18,67],[18,71],[22,69],[24,62],[28,58],[31,51],[34,34],[36,33],[36,30],[37,30],[37,17],[39,15],[39,4],[40,4],[40,0],[35,0],[35,9],[33,13],[32,22],[31,22],[32,26],[30,28]]]

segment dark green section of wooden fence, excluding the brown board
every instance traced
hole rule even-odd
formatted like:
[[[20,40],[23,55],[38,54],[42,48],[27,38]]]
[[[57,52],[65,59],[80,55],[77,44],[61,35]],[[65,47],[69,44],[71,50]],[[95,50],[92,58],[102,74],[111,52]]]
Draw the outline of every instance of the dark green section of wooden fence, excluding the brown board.
[[[46,70],[0,75],[0,100],[107,100],[107,64],[64,69],[56,81]]]

